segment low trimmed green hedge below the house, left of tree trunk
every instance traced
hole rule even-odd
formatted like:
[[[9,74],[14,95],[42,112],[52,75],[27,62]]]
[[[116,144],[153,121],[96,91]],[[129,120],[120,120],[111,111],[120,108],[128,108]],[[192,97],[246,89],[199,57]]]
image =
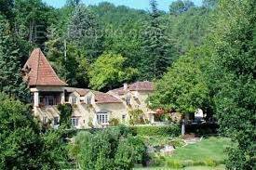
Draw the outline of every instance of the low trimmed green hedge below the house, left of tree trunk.
[[[162,137],[179,137],[181,127],[179,124],[170,125],[143,125],[132,126],[131,130],[139,136],[162,136]]]

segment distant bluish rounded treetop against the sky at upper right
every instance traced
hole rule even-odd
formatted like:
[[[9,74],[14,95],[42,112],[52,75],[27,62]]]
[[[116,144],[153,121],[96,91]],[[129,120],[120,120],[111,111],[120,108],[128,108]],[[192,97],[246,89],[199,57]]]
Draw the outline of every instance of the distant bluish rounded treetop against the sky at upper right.
[[[195,7],[195,4],[189,0],[177,0],[171,3],[169,6],[169,13],[174,15],[182,14],[188,11],[191,7]]]

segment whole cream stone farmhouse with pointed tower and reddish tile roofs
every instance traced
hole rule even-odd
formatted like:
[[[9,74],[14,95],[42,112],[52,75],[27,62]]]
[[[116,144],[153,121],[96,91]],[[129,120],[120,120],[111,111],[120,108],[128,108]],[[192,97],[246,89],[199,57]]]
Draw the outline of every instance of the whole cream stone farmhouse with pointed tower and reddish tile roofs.
[[[143,118],[154,123],[155,111],[146,104],[146,99],[154,91],[151,82],[125,84],[107,93],[69,87],[54,72],[39,48],[32,52],[22,74],[33,96],[34,116],[42,124],[58,127],[60,111],[57,105],[65,103],[73,105],[71,124],[77,129],[105,127],[114,118],[128,124],[129,111],[132,110],[143,111]]]

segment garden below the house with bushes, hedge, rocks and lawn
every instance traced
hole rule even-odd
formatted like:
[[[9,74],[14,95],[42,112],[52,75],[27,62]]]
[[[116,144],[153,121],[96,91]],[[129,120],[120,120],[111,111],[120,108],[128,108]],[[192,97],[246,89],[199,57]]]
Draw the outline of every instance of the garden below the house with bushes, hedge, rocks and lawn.
[[[118,125],[79,131],[69,146],[79,169],[224,169],[226,137],[180,137],[180,126]]]

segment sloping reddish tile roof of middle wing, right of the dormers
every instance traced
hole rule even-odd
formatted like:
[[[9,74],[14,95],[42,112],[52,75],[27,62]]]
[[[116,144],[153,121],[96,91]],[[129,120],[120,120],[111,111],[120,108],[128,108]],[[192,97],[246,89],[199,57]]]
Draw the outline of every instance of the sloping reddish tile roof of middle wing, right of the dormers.
[[[98,91],[93,92],[95,94],[95,101],[97,104],[102,103],[122,103],[122,101],[118,98],[115,98],[109,94],[101,93]]]

